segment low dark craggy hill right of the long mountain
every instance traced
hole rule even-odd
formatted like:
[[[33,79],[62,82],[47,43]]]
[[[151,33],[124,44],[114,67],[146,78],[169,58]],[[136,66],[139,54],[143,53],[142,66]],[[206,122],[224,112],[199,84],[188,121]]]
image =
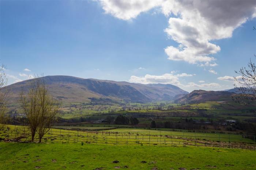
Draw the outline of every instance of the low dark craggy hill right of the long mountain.
[[[225,91],[194,90],[185,96],[176,96],[175,103],[201,103],[204,101],[231,101],[235,93]],[[181,96],[181,97],[180,97]]]

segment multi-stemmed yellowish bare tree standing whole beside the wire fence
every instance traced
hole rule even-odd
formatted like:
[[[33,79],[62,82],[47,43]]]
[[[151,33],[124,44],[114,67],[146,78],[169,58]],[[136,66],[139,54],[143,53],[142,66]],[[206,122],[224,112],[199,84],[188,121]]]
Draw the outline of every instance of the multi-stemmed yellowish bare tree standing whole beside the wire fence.
[[[31,141],[34,141],[37,132],[39,142],[41,142],[43,136],[53,125],[60,103],[54,101],[48,93],[48,86],[45,84],[44,77],[37,76],[29,82],[29,92],[25,94],[22,89],[20,102],[31,130]]]

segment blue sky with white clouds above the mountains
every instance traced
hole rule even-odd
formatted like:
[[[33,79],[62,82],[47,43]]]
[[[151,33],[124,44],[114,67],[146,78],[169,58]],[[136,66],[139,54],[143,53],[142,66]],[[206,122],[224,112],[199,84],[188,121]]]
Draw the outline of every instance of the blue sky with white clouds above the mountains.
[[[255,0],[0,1],[8,84],[34,75],[233,88],[256,54]]]

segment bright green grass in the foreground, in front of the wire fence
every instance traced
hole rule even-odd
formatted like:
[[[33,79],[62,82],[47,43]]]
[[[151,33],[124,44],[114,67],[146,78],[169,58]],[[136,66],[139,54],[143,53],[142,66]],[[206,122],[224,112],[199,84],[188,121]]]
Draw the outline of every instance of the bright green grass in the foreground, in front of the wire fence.
[[[255,169],[256,151],[213,147],[0,142],[0,169]],[[119,163],[112,163],[113,161]],[[146,161],[147,163],[141,163]],[[128,168],[127,168],[128,167]]]

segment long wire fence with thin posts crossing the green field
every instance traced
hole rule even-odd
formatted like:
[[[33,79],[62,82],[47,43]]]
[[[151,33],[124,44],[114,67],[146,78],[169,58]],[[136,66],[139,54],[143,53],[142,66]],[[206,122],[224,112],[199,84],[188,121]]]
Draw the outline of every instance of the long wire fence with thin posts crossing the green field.
[[[27,127],[0,130],[0,140],[29,142],[31,131]],[[38,141],[39,138],[36,135],[34,142]],[[52,128],[44,135],[42,142],[82,142],[126,146],[205,146],[256,150],[256,136],[170,131],[110,132]]]

